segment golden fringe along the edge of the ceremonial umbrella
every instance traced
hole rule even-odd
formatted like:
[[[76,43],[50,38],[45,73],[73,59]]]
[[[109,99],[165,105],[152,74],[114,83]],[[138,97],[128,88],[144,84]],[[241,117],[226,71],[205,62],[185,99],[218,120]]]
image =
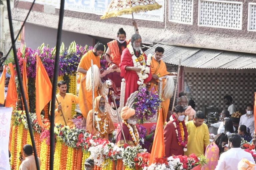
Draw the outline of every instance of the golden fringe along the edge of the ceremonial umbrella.
[[[152,11],[152,10],[157,10],[161,8],[162,5],[159,5],[158,3],[156,4],[148,4],[146,6],[135,6],[129,9],[122,9],[120,11],[111,11],[111,12],[106,12],[103,16],[101,16],[101,19],[107,19],[111,17],[117,17],[120,15],[125,15],[125,14],[131,14],[131,13],[139,13],[139,12],[146,12],[146,11]]]

